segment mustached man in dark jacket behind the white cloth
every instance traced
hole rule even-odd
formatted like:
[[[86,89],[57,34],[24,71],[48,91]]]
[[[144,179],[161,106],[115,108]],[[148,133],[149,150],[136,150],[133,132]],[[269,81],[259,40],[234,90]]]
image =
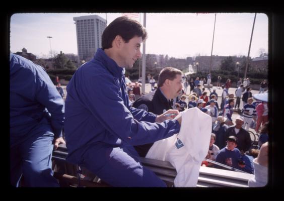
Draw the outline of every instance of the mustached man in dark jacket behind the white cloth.
[[[158,88],[141,96],[132,106],[155,115],[161,115],[170,109],[176,108],[176,106],[173,106],[173,99],[179,95],[179,91],[182,89],[181,76],[182,72],[176,68],[164,68],[159,74]],[[145,157],[153,144],[145,143],[134,146],[134,148],[139,156]]]

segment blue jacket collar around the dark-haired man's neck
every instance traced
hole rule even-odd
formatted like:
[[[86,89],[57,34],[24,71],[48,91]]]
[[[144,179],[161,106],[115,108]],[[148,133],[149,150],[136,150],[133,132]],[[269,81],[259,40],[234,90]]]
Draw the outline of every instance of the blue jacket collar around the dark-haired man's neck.
[[[114,77],[122,77],[123,68],[118,66],[116,62],[108,57],[103,49],[98,48],[95,56],[95,60],[102,62],[103,66],[114,76]]]

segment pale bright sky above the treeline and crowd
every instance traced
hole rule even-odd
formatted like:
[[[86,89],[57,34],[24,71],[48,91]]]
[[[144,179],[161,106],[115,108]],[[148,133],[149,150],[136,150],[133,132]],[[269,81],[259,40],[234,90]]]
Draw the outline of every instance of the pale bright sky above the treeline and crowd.
[[[77,54],[76,25],[73,17],[105,13],[22,13],[11,17],[11,52],[25,47],[38,57],[49,57],[52,51]],[[121,13],[108,13],[107,22]],[[143,14],[141,14],[143,24]],[[136,20],[139,21],[139,18]],[[168,54],[176,58],[211,54],[215,14],[147,13],[146,53]],[[213,55],[241,56],[248,54],[254,13],[217,13]],[[259,50],[268,51],[268,18],[257,14],[250,56]],[[141,47],[142,51],[142,47]]]

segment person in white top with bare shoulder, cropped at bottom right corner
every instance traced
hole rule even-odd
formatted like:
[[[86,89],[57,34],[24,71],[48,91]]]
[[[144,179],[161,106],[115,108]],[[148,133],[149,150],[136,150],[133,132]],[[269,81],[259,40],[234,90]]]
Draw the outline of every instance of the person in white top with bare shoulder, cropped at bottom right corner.
[[[248,181],[249,187],[262,187],[268,180],[268,142],[260,147],[257,158],[253,159],[254,177]]]

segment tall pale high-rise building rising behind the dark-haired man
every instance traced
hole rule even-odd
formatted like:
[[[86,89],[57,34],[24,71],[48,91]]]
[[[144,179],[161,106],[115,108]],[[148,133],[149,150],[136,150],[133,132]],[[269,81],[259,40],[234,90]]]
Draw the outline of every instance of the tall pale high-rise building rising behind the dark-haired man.
[[[97,15],[74,17],[77,33],[78,59],[89,61],[102,47],[102,34],[106,20]]]

